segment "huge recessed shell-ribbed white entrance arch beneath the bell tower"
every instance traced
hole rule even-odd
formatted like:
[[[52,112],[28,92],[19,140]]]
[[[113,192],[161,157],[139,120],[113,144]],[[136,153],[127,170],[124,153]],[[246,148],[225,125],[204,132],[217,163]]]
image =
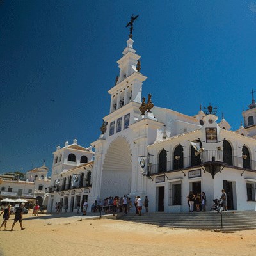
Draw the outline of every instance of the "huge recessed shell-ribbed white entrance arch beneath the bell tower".
[[[131,193],[132,152],[129,141],[118,137],[106,151],[102,166],[100,198]]]

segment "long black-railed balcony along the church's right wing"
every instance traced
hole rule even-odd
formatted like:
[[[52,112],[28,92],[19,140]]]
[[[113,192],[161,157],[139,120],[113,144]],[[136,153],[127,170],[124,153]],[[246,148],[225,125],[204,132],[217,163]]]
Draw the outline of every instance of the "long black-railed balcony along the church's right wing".
[[[243,157],[224,155],[221,150],[206,150],[200,156],[189,156],[183,159],[180,157],[180,159],[167,161],[166,163],[152,164],[152,166],[149,166],[149,174],[156,175],[158,173],[186,170],[191,167],[205,167],[208,172],[209,168],[212,168],[211,166],[226,166],[229,168],[256,171],[256,161],[249,158],[244,159]],[[213,172],[216,172],[216,170],[211,170],[211,174]]]

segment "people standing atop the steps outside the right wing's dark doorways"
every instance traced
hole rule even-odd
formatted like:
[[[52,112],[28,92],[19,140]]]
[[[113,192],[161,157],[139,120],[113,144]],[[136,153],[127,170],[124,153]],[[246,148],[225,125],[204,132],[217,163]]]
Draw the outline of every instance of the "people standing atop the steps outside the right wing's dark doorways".
[[[225,189],[221,190],[221,200],[223,204],[223,211],[227,211],[227,193],[225,192]],[[202,192],[202,195],[200,193],[196,193],[196,195],[193,194],[193,191],[189,192],[188,198],[188,206],[189,206],[189,212],[194,211],[194,205],[196,208],[196,211],[206,211],[206,195],[204,192]]]

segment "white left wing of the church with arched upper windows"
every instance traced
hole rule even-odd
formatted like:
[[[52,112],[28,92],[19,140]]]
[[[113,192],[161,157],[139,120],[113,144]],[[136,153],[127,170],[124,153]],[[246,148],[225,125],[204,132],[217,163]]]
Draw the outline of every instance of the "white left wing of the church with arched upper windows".
[[[56,203],[61,205],[60,212],[76,212],[77,206],[88,200],[92,189],[93,156],[92,147],[85,148],[77,140],[69,145],[68,141],[53,153],[51,187],[47,212],[56,212]],[[79,182],[73,186],[72,177],[77,175]],[[65,207],[67,205],[67,207]]]

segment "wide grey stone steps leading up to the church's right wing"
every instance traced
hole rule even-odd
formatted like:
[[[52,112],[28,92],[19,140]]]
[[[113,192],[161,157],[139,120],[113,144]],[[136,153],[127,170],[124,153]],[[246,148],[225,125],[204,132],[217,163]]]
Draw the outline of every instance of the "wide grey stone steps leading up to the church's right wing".
[[[225,211],[221,214],[210,212],[187,213],[145,213],[138,216],[133,213],[118,214],[118,219],[157,225],[161,227],[238,231],[256,229],[256,211]]]

